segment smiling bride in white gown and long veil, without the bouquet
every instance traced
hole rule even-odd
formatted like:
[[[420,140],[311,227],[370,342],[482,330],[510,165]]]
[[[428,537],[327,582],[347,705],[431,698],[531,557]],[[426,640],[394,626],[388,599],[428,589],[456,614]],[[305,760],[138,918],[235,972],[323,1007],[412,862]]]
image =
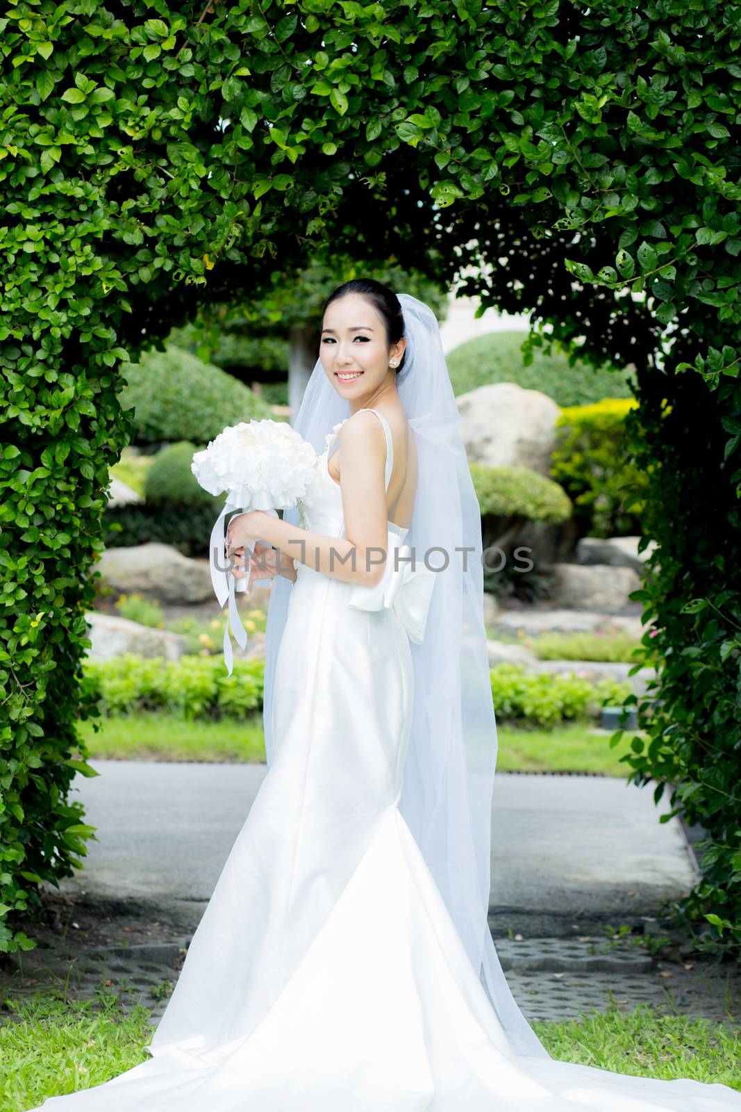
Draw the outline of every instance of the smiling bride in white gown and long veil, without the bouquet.
[[[301,525],[228,529],[234,574],[273,580],[268,775],[151,1056],[42,1106],[741,1112],[725,1085],[557,1061],[518,1007],[487,924],[481,520],[438,322],[359,279],[321,325]]]

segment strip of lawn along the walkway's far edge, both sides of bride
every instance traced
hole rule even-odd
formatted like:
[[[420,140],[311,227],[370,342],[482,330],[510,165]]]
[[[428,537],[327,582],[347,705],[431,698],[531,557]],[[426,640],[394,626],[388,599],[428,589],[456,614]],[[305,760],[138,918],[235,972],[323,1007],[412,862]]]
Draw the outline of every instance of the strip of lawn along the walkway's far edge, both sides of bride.
[[[101,718],[96,734],[90,722],[79,724],[91,757],[156,761],[264,761],[262,716],[243,721],[183,722],[164,714]],[[499,727],[501,772],[597,772],[627,775],[621,754],[630,747],[631,731],[611,749],[610,734],[589,733],[583,724],[552,731]]]

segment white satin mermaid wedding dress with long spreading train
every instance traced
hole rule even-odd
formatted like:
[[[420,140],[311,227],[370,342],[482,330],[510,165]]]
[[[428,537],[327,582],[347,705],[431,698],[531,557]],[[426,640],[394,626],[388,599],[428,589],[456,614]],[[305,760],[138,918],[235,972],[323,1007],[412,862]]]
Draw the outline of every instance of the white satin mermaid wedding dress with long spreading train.
[[[378,416],[388,489],[393,444]],[[310,528],[341,537],[328,455]],[[389,523],[390,544],[405,532]],[[725,1085],[511,1050],[398,807],[424,583],[398,584],[388,605],[384,580],[358,587],[300,565],[272,762],[153,1056],[46,1112],[741,1112]]]

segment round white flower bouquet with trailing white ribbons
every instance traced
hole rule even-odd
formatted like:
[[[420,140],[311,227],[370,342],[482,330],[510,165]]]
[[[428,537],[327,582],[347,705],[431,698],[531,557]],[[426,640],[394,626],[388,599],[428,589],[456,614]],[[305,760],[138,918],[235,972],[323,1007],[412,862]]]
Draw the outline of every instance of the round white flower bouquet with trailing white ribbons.
[[[230,623],[242,648],[247,644],[247,633],[234,600],[234,577],[229,574],[232,565],[226,559],[224,518],[234,510],[244,514],[251,509],[267,510],[278,517],[278,509],[297,505],[303,515],[316,463],[317,453],[296,429],[286,421],[270,418],[230,425],[209,443],[208,448],[193,454],[191,470],[200,486],[212,495],[227,492],[227,502],[211,530],[209,557],[211,583],[219,605],[223,606],[229,599],[224,629],[224,661],[229,675],[233,665]],[[237,589],[246,589],[246,580]]]

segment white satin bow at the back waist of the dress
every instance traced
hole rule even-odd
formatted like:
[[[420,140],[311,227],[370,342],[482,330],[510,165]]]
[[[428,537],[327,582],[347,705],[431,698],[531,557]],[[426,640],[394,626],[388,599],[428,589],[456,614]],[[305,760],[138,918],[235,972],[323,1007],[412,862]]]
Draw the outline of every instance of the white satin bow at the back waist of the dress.
[[[389,529],[383,575],[373,587],[360,584],[354,586],[350,592],[349,605],[358,610],[392,609],[410,641],[421,645],[435,575],[437,572],[424,564],[412,569],[411,548],[402,545],[399,534]]]

